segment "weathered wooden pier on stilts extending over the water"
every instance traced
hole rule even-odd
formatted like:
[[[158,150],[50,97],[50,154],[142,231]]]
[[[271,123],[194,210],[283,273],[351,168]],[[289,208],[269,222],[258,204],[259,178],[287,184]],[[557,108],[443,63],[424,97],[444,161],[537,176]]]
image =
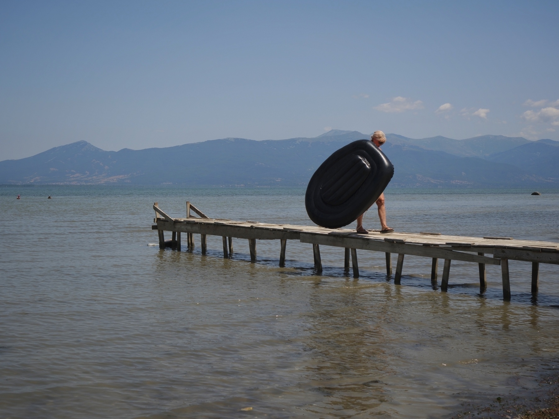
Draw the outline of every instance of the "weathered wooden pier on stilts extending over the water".
[[[223,257],[233,252],[233,237],[248,239],[250,260],[256,261],[256,241],[280,240],[280,266],[285,265],[287,240],[297,240],[312,244],[314,264],[317,274],[322,272],[320,245],[344,248],[344,268],[351,267],[353,277],[359,277],[356,249],[386,254],[386,275],[392,275],[391,254],[398,255],[394,284],[400,284],[404,256],[423,256],[432,258],[431,281],[437,284],[439,259],[444,260],[440,289],[447,291],[451,262],[453,260],[477,263],[479,265],[480,289],[487,286],[485,265],[500,265],[503,280],[503,299],[510,300],[509,260],[532,262],[532,293],[538,292],[539,263],[559,265],[559,243],[529,240],[515,240],[510,237],[463,237],[444,236],[440,233],[388,233],[369,231],[369,234],[356,234],[355,230],[329,229],[318,226],[267,224],[253,221],[234,221],[208,218],[190,202],[186,203],[186,218],[172,218],[159,209],[155,210],[151,228],[158,230],[159,247],[174,247],[181,250],[181,233],[187,233],[187,247],[194,247],[193,235],[200,234],[202,252],[206,252],[206,236],[221,236]],[[193,216],[196,213],[198,216]],[[172,239],[165,241],[164,232],[172,232]],[[486,256],[492,255],[492,256]]]

